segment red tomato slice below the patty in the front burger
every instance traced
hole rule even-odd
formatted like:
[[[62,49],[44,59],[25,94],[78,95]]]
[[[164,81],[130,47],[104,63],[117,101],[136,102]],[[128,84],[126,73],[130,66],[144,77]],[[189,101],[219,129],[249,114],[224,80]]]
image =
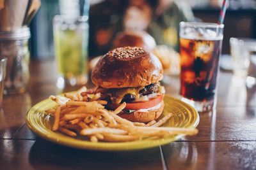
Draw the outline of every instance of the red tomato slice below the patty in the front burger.
[[[140,109],[147,109],[147,108],[152,108],[156,106],[157,104],[161,103],[163,101],[164,96],[159,95],[156,98],[149,99],[148,101],[145,102],[137,102],[137,103],[126,103],[125,109],[127,110],[140,110]],[[114,103],[109,103],[107,107],[111,110],[115,110],[118,108],[120,104],[114,104]]]

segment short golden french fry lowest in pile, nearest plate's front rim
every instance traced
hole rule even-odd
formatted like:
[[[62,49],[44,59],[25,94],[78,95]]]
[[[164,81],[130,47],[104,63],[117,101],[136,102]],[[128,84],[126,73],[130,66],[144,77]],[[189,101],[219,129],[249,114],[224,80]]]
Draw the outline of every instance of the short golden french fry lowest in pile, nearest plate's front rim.
[[[135,141],[140,139],[139,136],[129,136],[129,135],[122,135],[122,134],[111,134],[111,133],[105,133],[103,134],[104,139],[103,141],[109,141],[109,142],[127,142],[127,141]]]

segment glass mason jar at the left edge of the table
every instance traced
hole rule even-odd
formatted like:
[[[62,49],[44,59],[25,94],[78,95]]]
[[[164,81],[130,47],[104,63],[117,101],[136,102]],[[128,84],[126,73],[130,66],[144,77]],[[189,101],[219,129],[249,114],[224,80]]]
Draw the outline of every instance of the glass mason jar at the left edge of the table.
[[[0,58],[7,58],[4,94],[22,93],[28,88],[29,38],[28,27],[0,31]]]

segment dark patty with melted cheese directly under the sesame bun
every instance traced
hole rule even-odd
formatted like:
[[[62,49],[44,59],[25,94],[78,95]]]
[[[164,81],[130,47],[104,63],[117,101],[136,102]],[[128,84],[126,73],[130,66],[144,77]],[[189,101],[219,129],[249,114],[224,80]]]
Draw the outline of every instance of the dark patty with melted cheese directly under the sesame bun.
[[[164,87],[160,83],[152,83],[145,87],[129,87],[122,89],[104,89],[99,87],[96,92],[102,94],[101,99],[109,103],[136,103],[148,101],[151,98],[157,97],[158,94],[164,94]]]

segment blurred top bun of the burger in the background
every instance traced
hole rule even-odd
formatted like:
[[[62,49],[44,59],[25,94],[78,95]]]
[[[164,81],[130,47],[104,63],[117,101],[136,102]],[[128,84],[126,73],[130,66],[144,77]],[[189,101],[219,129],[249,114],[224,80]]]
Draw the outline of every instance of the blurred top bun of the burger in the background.
[[[113,47],[124,46],[140,46],[145,50],[153,50],[156,47],[156,41],[145,31],[124,31],[117,34]]]

